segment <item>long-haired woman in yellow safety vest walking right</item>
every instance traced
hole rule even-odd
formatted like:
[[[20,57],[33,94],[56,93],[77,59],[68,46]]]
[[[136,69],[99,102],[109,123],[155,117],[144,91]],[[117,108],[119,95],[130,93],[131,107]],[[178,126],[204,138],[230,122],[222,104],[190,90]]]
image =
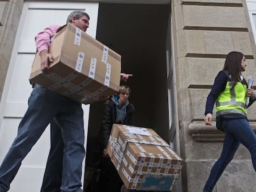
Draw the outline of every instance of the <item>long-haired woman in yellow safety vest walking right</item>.
[[[256,171],[256,136],[246,117],[246,108],[256,99],[252,87],[241,72],[246,68],[245,57],[241,52],[229,52],[221,70],[215,78],[205,107],[205,125],[211,125],[213,106],[216,104],[216,127],[225,131],[223,151],[213,165],[203,192],[211,192],[226,166],[242,143],[249,149],[252,164]],[[247,98],[249,103],[247,104]]]

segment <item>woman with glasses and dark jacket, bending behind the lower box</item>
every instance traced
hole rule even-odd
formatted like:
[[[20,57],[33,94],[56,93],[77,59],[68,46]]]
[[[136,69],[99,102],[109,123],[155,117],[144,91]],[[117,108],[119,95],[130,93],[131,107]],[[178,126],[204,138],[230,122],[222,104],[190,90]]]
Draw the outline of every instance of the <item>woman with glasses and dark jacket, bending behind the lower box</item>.
[[[111,162],[106,146],[113,123],[122,125],[135,125],[134,106],[129,102],[130,88],[120,86],[117,95],[105,102],[105,112],[100,130],[100,143],[103,148],[103,167],[100,177],[100,191],[119,192],[122,186],[122,180],[119,177],[116,168]]]

